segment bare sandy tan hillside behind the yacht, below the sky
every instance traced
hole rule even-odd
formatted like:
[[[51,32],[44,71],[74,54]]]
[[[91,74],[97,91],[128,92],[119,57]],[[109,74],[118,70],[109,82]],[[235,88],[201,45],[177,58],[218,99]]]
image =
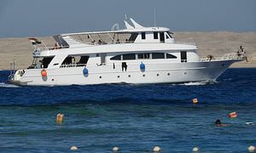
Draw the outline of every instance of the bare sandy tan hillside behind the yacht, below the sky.
[[[202,57],[236,52],[242,45],[249,62],[236,63],[232,67],[256,67],[256,32],[175,32],[175,37],[179,42],[196,42]],[[39,39],[49,47],[54,46],[52,37]],[[0,38],[0,70],[8,70],[12,60],[20,69],[32,64],[32,45],[27,38]]]

